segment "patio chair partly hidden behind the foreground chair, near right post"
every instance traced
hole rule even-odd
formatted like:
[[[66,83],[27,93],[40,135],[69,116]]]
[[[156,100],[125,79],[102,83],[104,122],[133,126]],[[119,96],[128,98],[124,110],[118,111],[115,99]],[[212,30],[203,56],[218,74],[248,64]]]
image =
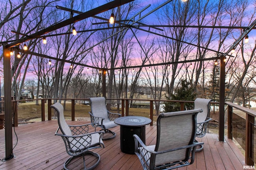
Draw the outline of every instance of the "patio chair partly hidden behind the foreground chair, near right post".
[[[201,113],[197,114],[196,121],[197,121],[197,129],[196,129],[196,137],[204,137],[206,134],[207,126],[210,119],[210,102],[211,99],[202,99],[196,98],[194,101],[194,109],[202,109]],[[197,141],[196,141],[197,142]],[[200,152],[203,150],[203,145],[196,149],[196,152]]]

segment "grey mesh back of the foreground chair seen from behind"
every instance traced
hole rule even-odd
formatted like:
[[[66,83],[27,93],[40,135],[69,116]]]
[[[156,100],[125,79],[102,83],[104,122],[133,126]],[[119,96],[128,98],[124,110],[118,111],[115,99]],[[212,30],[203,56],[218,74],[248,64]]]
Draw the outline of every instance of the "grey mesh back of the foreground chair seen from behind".
[[[202,109],[193,109],[158,115],[155,151],[160,152],[193,144],[196,136],[196,115],[201,111]],[[155,166],[158,166],[188,160],[189,156],[189,148],[181,149],[158,154],[155,158],[151,157],[150,162],[155,159]]]

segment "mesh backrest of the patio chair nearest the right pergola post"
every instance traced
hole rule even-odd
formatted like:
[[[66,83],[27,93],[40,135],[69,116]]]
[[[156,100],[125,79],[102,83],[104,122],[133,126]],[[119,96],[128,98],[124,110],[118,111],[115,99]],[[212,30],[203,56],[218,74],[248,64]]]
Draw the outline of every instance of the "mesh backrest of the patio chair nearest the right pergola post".
[[[197,114],[197,123],[202,123],[206,121],[207,117],[210,117],[210,102],[211,99],[196,98],[194,101],[194,109],[203,109],[201,113]]]

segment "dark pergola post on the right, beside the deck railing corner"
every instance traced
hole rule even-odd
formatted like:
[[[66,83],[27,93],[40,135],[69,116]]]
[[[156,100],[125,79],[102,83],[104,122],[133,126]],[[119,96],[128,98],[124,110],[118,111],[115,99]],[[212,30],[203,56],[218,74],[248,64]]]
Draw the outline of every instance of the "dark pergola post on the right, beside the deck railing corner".
[[[220,114],[219,114],[219,141],[224,141],[224,123],[225,123],[225,59],[220,57]]]

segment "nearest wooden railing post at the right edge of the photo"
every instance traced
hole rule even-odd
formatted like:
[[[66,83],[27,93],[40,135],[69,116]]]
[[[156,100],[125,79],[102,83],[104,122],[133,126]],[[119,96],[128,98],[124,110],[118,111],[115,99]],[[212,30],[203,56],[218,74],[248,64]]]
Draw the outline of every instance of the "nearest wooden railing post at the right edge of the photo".
[[[252,123],[254,124],[254,116],[246,113],[246,123],[245,123],[245,163],[247,165],[254,165],[253,161],[253,143],[252,143]]]

